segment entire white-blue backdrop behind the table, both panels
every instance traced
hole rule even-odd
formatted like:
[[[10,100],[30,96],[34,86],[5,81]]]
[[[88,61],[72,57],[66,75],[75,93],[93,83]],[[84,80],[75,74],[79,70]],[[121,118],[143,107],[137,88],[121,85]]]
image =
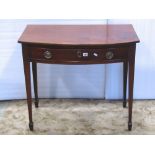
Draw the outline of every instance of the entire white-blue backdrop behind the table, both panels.
[[[25,98],[21,45],[27,24],[106,24],[107,20],[0,20],[0,100]],[[155,20],[108,20],[133,24],[137,46],[134,98],[155,98]],[[122,65],[38,65],[39,97],[122,98]]]

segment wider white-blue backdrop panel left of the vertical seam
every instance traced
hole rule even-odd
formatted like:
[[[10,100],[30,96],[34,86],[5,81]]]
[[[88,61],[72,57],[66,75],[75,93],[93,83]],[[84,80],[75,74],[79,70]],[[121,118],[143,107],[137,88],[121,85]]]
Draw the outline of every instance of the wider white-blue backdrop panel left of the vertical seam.
[[[21,45],[27,24],[106,24],[106,20],[0,20],[0,100],[26,97]],[[39,97],[104,98],[105,65],[38,65]]]

